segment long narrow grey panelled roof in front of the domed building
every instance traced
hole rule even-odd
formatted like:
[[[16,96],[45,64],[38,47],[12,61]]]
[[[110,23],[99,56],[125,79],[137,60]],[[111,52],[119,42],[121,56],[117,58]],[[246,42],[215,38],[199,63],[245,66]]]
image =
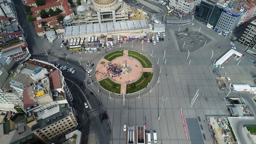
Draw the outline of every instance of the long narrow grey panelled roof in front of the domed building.
[[[64,36],[118,32],[118,31],[125,31],[125,30],[136,30],[136,29],[147,29],[147,28],[149,29],[149,24],[147,23],[146,20],[133,20],[133,21],[122,21],[122,22],[66,26],[64,29]]]

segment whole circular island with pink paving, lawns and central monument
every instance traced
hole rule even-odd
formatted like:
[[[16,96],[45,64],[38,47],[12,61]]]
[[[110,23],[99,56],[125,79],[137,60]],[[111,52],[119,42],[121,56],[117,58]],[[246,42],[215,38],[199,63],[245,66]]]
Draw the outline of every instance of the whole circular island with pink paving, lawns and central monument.
[[[146,56],[117,50],[98,62],[95,77],[103,89],[113,94],[131,94],[146,88],[153,74],[153,65]]]

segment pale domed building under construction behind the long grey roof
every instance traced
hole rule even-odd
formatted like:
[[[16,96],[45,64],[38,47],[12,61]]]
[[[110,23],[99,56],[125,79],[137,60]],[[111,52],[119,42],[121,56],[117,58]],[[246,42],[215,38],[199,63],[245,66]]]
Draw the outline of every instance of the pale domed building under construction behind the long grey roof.
[[[88,0],[77,7],[76,17],[66,16],[65,25],[107,23],[128,20],[128,5],[123,0]]]

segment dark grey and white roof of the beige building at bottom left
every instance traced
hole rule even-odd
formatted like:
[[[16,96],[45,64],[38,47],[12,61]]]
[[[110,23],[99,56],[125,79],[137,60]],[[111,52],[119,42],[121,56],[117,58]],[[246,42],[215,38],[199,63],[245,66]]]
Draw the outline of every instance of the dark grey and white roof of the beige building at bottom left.
[[[31,127],[31,131],[35,131],[37,129],[44,128],[47,125],[51,125],[66,116],[71,112],[71,108],[68,107],[68,104],[60,104],[56,106],[52,106],[43,112],[37,112],[37,124]]]

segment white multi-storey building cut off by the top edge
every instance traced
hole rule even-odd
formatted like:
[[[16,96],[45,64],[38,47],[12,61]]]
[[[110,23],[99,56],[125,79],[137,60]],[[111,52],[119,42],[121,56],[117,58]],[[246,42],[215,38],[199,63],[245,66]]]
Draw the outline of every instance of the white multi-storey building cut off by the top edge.
[[[182,15],[189,15],[201,0],[170,0],[169,5]]]

